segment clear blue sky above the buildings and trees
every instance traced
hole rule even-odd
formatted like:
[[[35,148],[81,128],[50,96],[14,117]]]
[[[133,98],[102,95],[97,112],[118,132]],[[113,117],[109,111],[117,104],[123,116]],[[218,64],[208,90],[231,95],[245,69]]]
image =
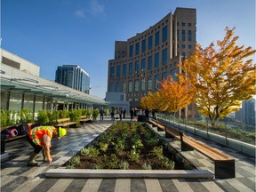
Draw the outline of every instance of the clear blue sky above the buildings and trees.
[[[115,41],[126,41],[176,7],[196,8],[197,43],[221,40],[234,28],[237,44],[255,49],[255,0],[0,0],[1,46],[40,66],[54,80],[58,66],[89,73],[92,95],[105,97]],[[254,57],[255,60],[255,57]]]

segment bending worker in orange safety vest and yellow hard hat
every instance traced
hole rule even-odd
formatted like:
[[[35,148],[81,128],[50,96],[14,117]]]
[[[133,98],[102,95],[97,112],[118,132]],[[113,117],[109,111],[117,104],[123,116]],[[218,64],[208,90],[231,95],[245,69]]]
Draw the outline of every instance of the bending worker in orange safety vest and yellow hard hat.
[[[34,148],[28,158],[28,166],[37,166],[36,157],[43,149],[44,160],[47,157],[49,164],[52,164],[50,148],[52,147],[52,138],[60,139],[66,135],[66,129],[55,128],[54,126],[37,126],[27,134],[28,143]]]

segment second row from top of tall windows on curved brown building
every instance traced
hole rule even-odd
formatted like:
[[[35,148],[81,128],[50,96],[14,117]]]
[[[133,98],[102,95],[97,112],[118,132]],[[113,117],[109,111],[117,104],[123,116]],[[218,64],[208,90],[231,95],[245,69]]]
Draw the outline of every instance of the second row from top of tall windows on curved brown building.
[[[162,52],[162,65],[166,65],[168,62],[168,52],[167,49],[163,50]],[[148,64],[148,68],[147,65]],[[142,59],[141,61],[136,60],[134,65],[135,65],[135,70],[133,71],[133,63],[129,63],[129,75],[132,75],[133,72],[139,72],[140,70],[151,70],[152,69],[152,64],[153,64],[153,58],[152,56],[148,57],[148,60],[146,59]],[[160,65],[160,55],[159,52],[157,52],[154,56],[154,66],[155,68],[158,68]],[[115,71],[116,68],[116,71]],[[126,70],[127,66],[126,64],[123,64],[123,71],[122,71],[122,75],[126,76]],[[114,76],[121,76],[121,65],[118,66],[112,66],[110,67],[110,77],[114,77]]]

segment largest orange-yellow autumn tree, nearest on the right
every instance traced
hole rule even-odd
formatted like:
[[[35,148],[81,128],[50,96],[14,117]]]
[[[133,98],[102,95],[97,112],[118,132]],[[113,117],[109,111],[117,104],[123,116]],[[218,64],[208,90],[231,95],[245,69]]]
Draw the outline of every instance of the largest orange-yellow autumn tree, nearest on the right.
[[[208,116],[212,125],[219,118],[237,111],[243,100],[255,94],[255,64],[246,58],[255,54],[252,47],[236,45],[234,28],[226,28],[222,41],[203,49],[196,44],[196,52],[180,66],[180,76],[190,79],[195,91],[199,113]]]

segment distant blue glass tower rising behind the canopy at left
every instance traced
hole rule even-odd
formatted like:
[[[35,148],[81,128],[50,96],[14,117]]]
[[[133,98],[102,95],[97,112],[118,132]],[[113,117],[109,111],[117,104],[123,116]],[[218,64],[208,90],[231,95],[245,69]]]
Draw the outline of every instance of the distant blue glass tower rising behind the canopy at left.
[[[90,77],[77,65],[63,65],[56,70],[55,82],[80,92],[90,93]]]

